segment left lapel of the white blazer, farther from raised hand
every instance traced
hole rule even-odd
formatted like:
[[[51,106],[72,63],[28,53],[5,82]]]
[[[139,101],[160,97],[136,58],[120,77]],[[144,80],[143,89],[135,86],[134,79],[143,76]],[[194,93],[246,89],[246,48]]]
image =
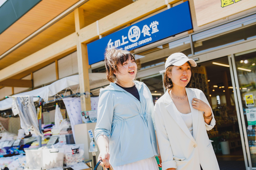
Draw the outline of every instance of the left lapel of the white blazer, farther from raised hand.
[[[177,125],[184,131],[184,133],[194,142],[196,143],[195,139],[191,135],[190,131],[188,130],[188,127],[186,126],[184,120],[182,119],[179,111],[177,110],[175,104],[172,101],[171,96],[169,95],[169,92],[166,91],[165,95],[165,103],[168,104],[165,108],[169,112],[169,114],[172,116],[173,120],[177,123]],[[194,128],[194,126],[193,126]],[[193,132],[194,133],[194,132]]]

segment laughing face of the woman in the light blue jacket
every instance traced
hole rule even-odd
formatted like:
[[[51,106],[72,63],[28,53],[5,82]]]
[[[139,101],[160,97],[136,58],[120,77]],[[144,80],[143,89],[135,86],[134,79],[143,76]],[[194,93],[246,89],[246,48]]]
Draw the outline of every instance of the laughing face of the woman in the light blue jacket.
[[[137,74],[137,64],[131,56],[123,63],[117,64],[117,70],[114,71],[116,78],[120,82],[131,83]]]

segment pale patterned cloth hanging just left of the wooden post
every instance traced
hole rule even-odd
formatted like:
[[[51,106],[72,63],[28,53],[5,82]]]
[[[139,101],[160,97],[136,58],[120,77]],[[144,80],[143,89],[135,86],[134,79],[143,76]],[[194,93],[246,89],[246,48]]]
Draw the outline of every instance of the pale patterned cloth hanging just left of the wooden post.
[[[67,97],[63,98],[63,102],[65,104],[69,120],[71,123],[71,128],[73,132],[73,137],[75,139],[75,128],[74,126],[77,124],[82,124],[82,117],[81,117],[81,99],[80,97],[72,98]]]

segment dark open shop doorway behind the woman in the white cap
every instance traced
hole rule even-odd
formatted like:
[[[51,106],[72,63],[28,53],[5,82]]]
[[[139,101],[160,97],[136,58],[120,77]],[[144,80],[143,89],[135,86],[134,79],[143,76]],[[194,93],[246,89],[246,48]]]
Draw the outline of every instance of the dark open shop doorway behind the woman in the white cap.
[[[192,88],[204,92],[215,115],[216,126],[207,133],[213,140],[212,145],[220,167],[245,169],[236,110],[237,99],[234,95],[228,57],[199,63],[193,70]]]

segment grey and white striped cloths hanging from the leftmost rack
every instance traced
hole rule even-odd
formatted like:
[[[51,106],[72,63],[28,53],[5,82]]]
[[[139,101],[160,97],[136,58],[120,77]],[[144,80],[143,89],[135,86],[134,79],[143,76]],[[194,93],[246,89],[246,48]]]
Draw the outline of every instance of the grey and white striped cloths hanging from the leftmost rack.
[[[35,134],[43,137],[39,131],[36,108],[33,102],[33,96],[12,97],[12,110],[20,117],[21,128],[25,134]]]

